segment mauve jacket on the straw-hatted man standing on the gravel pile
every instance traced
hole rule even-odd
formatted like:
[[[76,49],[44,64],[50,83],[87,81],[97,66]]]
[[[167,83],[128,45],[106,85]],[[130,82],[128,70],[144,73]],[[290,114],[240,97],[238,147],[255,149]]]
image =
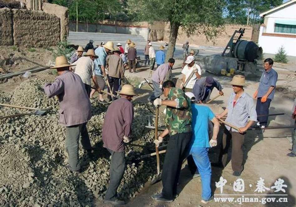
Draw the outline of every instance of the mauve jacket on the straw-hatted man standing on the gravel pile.
[[[90,99],[79,75],[65,71],[53,83],[46,83],[43,89],[49,98],[58,96],[61,125],[78,125],[90,120]]]

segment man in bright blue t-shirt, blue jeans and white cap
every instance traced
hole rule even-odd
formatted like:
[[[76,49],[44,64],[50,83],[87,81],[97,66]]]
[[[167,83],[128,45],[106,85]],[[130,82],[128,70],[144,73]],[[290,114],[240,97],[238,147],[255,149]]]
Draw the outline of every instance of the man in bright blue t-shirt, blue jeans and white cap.
[[[211,163],[208,148],[217,146],[219,121],[208,106],[195,104],[192,92],[185,93],[192,101],[192,138],[190,141],[189,155],[192,155],[199,174],[201,175],[202,194],[201,202],[207,204],[213,200],[211,195]],[[208,121],[214,124],[213,136],[209,141]]]

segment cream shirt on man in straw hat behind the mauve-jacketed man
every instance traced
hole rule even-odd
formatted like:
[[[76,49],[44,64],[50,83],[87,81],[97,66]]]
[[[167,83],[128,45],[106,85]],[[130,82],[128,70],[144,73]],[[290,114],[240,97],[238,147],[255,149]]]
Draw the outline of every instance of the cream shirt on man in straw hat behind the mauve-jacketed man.
[[[74,73],[80,76],[83,83],[91,85],[90,80],[95,72],[94,61],[90,57],[83,56],[73,64],[76,64]]]

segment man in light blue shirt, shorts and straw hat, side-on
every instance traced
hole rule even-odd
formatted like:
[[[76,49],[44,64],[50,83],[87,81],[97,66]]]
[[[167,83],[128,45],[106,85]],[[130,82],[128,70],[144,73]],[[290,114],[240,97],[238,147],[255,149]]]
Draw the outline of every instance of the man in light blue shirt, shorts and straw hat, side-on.
[[[98,56],[98,58],[95,60],[95,78],[97,81],[97,84],[100,88],[100,90],[104,90],[107,80],[107,74],[105,72],[106,67],[106,58],[111,51],[114,50],[114,44],[112,41],[106,42],[106,44],[103,45],[103,47],[98,47],[95,50],[95,54]],[[90,98],[93,97],[96,90],[91,90],[90,92]],[[99,92],[99,102],[105,104],[106,101],[103,98],[103,93]]]

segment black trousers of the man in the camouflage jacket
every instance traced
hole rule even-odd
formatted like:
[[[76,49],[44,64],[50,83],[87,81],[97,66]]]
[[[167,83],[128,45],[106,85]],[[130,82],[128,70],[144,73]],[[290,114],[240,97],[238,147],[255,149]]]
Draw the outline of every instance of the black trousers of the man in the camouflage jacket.
[[[163,163],[163,197],[173,199],[177,194],[177,183],[179,180],[182,161],[188,148],[191,132],[179,133],[170,136],[167,144],[167,152]]]

